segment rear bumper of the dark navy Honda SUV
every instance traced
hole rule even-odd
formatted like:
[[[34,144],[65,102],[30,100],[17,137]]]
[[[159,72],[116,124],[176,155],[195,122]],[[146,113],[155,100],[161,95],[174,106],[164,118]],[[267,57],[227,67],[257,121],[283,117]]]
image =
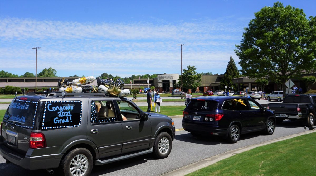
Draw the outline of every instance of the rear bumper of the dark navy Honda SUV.
[[[203,135],[212,135],[215,133],[214,135],[225,136],[228,134],[228,129],[220,129],[217,125],[210,124],[205,125],[193,122],[182,122],[182,128],[190,133],[198,133]]]

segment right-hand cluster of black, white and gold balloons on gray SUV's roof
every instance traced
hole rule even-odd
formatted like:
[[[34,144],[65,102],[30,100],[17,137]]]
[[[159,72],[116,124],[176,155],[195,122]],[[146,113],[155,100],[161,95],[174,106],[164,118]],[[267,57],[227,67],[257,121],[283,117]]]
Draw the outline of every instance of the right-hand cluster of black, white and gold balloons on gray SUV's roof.
[[[122,79],[117,79],[114,82],[113,78],[111,78],[111,79],[107,78],[106,80],[103,80],[103,79],[98,77],[97,78],[97,85],[98,85],[98,92],[105,93],[107,95],[126,97],[130,94],[130,90],[123,89],[124,82]]]

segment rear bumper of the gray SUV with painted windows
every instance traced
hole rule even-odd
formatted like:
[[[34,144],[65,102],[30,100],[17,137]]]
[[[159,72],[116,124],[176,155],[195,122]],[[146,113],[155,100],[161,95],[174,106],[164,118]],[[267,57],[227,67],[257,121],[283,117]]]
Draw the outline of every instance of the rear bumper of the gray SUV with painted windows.
[[[63,157],[63,154],[22,157],[4,145],[0,145],[0,155],[5,160],[9,160],[11,163],[29,170],[57,168]]]

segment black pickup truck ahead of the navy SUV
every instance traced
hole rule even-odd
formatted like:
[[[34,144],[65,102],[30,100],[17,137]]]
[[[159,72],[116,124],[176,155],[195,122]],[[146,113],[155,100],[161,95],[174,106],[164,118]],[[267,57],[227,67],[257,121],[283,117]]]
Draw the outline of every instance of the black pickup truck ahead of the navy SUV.
[[[283,103],[270,103],[267,109],[272,110],[276,116],[276,123],[285,119],[300,120],[312,127],[316,115],[316,94],[288,94]]]

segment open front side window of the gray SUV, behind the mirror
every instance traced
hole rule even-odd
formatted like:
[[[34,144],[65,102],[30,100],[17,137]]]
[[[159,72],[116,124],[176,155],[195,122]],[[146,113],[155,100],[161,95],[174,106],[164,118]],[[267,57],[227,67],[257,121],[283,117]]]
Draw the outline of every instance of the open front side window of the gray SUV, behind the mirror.
[[[140,119],[139,111],[130,102],[117,101],[117,103],[119,105],[123,121]]]

